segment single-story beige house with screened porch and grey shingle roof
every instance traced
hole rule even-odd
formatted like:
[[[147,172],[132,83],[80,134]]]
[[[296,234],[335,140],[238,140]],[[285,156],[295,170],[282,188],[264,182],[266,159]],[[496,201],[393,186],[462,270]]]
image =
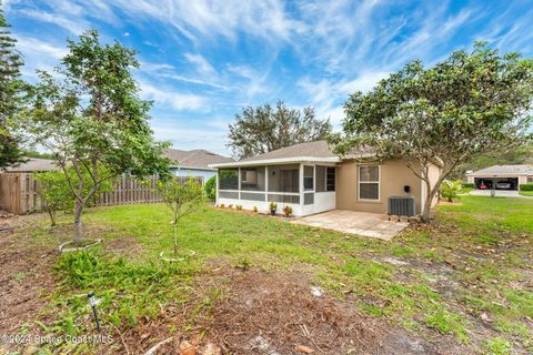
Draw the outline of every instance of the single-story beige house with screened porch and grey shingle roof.
[[[410,195],[421,213],[428,195],[423,181],[400,160],[376,163],[371,156],[341,158],[325,141],[316,141],[211,164],[218,170],[217,204],[268,211],[275,202],[279,211],[292,206],[296,216],[335,209],[386,213],[389,196]],[[438,168],[430,173],[436,181]]]

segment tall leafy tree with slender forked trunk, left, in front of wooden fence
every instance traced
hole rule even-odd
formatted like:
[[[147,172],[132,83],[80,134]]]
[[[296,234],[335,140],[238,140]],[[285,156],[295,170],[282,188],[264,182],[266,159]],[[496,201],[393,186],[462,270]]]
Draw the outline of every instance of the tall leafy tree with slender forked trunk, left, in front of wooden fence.
[[[56,69],[61,80],[39,73],[20,126],[63,171],[74,196],[74,242],[80,244],[83,207],[102,184],[122,174],[167,176],[169,160],[162,158],[168,144],[154,141],[149,126],[151,102],[139,98],[131,74],[139,67],[134,51],[119,42],[100,43],[94,30],[78,42],[69,40],[68,48]]]

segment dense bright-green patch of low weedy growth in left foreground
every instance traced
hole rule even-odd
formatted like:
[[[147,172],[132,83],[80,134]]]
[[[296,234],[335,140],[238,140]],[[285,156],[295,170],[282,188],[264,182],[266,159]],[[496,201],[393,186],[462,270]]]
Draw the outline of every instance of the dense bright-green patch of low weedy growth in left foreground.
[[[195,266],[190,262],[137,264],[124,257],[108,257],[94,251],[81,251],[61,255],[54,266],[61,275],[61,287],[52,294],[53,302],[61,307],[58,323],[50,332],[76,335],[87,332],[81,322],[87,314],[89,290],[95,291],[101,300],[99,315],[117,327],[129,328],[141,318],[157,318],[160,307],[172,302],[187,300],[188,286]],[[67,320],[80,320],[68,325]],[[71,334],[71,335],[73,335]]]

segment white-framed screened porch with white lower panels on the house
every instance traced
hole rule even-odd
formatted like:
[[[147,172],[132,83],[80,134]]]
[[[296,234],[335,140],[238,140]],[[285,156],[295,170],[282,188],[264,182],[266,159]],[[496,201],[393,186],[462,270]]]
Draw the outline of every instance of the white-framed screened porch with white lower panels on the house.
[[[268,211],[271,202],[281,212],[291,205],[294,215],[335,209],[335,165],[291,163],[221,168],[218,170],[218,204]]]

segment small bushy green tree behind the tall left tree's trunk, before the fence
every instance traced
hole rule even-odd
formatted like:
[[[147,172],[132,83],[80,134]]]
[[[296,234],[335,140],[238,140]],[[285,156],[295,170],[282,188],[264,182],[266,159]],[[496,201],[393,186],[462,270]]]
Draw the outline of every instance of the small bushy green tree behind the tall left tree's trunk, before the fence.
[[[99,174],[105,175],[102,168],[99,168]],[[68,178],[67,175],[68,174]],[[93,189],[93,182],[88,172],[83,172],[87,184],[84,185],[84,193],[89,193]],[[58,211],[72,211],[74,207],[76,196],[69,186],[69,180],[73,185],[78,185],[79,179],[73,168],[68,168],[63,171],[48,171],[36,173],[36,180],[39,182],[38,193],[43,202],[44,210],[50,216],[50,224],[56,225],[56,213]],[[99,194],[111,191],[113,189],[113,181],[105,181],[98,186],[94,197]]]

